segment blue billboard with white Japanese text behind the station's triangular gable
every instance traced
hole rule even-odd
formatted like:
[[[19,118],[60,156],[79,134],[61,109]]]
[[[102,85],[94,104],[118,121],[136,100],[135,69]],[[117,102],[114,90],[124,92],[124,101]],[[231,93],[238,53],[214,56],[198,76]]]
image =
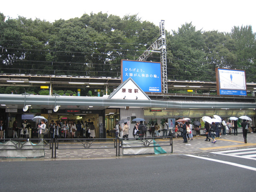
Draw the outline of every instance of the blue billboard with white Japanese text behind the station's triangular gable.
[[[161,63],[134,60],[121,61],[121,80],[129,77],[144,92],[162,92]]]

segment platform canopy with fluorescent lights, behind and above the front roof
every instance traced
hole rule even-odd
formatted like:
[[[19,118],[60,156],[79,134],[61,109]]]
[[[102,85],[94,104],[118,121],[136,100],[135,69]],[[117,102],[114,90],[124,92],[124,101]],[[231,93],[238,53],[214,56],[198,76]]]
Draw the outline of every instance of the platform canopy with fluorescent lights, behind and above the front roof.
[[[95,89],[117,88],[121,84],[120,77],[93,77],[68,75],[32,75],[32,74],[0,74],[0,86],[52,86],[82,88],[90,86]],[[168,90],[206,90],[216,91],[216,82],[168,80]],[[246,83],[248,91],[254,91],[256,83]]]

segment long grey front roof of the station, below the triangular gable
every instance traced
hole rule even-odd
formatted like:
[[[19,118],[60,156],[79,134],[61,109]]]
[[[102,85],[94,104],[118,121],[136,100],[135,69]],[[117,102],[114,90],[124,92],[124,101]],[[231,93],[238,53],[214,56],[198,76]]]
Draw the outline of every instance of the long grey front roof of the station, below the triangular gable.
[[[56,102],[55,102],[56,100]],[[55,105],[60,109],[81,109],[81,110],[103,110],[106,108],[170,108],[170,109],[256,109],[255,102],[236,102],[236,101],[193,101],[193,100],[126,100],[109,99],[103,97],[87,96],[44,96],[44,95],[25,95],[22,94],[0,94],[0,108],[23,108],[30,105],[33,109],[53,109]]]

